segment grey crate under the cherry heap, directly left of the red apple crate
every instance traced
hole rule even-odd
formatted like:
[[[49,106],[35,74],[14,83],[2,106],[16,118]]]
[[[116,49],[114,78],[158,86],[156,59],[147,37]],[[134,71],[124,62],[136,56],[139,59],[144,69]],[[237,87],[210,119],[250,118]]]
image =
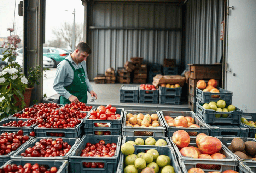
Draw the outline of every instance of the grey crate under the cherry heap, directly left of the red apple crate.
[[[49,133],[63,133],[65,138],[77,138],[83,132],[83,120],[81,120],[80,124],[77,124],[74,128],[66,128],[66,129],[52,129],[52,128],[42,128],[35,127],[35,133],[37,137],[52,137]]]

